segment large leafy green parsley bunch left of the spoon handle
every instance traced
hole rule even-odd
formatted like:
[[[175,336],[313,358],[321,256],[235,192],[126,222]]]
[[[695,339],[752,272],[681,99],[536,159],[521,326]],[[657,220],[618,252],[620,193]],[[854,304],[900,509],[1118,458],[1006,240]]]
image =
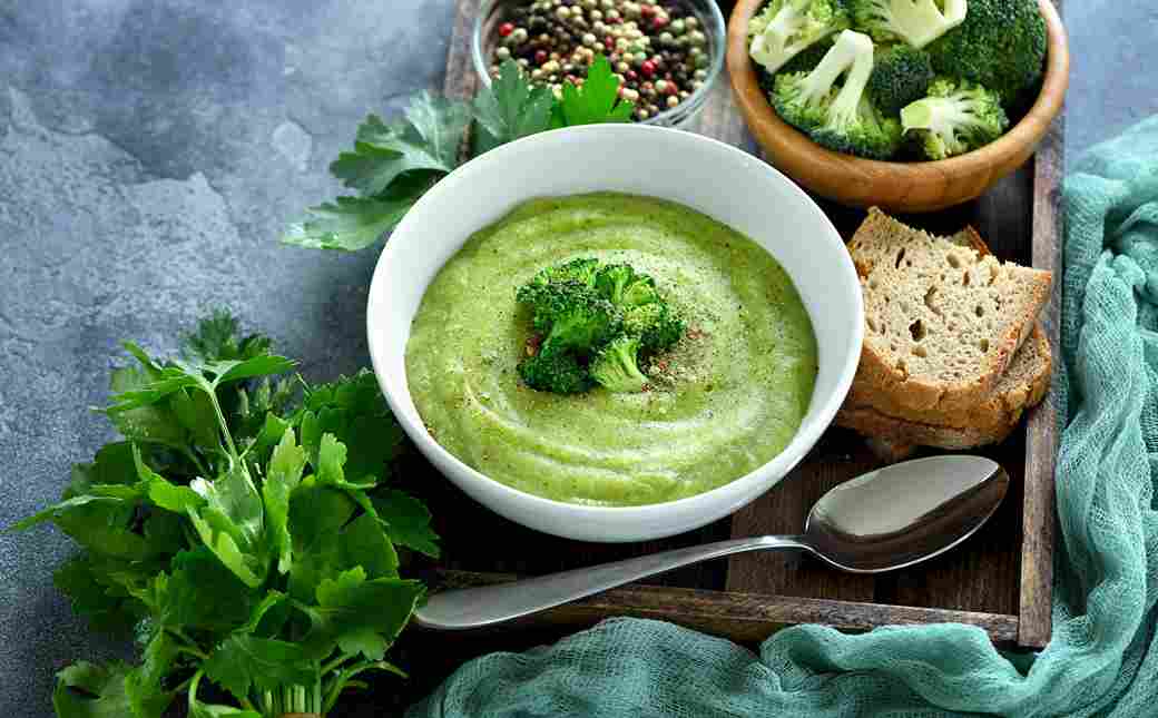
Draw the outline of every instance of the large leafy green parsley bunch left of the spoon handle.
[[[405,547],[438,556],[430,513],[387,485],[403,434],[372,373],[329,384],[240,337],[226,313],[169,361],[125,345],[104,409],[122,440],[74,467],[51,521],[83,552],[56,574],[98,629],[134,628],[142,660],[60,672],[61,718],[327,713],[424,595]],[[404,674],[402,674],[404,675]]]

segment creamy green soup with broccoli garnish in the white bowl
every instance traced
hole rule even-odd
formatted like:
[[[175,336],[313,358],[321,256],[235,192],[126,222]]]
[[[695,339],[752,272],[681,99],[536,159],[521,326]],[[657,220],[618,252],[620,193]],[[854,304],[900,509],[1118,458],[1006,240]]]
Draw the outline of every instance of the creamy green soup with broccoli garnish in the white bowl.
[[[426,290],[406,374],[431,435],[490,478],[632,506],[783,450],[816,340],[792,280],[748,237],[595,193],[528,202],[472,235]]]

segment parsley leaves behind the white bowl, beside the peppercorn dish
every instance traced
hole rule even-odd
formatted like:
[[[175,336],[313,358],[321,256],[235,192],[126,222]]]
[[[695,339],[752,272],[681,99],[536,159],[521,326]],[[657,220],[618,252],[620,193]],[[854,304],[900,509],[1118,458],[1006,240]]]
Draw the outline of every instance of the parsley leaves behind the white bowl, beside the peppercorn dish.
[[[460,164],[468,127],[472,129],[469,154],[478,156],[547,130],[630,122],[632,110],[630,102],[620,100],[620,80],[606,57],[595,59],[581,87],[565,83],[562,97],[533,86],[508,59],[474,102],[422,93],[393,125],[368,116],[358,127],[353,152],[343,152],[330,164],[330,173],[358,193],[310,207],[281,241],[346,251],[369,247]]]

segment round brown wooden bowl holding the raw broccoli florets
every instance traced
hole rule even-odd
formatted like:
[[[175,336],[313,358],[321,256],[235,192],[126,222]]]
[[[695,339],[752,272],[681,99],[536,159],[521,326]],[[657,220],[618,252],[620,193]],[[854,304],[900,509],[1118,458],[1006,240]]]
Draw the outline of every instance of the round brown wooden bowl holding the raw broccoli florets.
[[[760,88],[748,57],[748,21],[763,3],[738,0],[728,21],[727,69],[736,103],[777,169],[841,204],[932,212],[975,199],[1029,159],[1062,110],[1070,69],[1065,28],[1053,3],[1039,0],[1048,36],[1041,94],[1004,135],[980,149],[933,162],[880,162],[831,152],[782,120]]]

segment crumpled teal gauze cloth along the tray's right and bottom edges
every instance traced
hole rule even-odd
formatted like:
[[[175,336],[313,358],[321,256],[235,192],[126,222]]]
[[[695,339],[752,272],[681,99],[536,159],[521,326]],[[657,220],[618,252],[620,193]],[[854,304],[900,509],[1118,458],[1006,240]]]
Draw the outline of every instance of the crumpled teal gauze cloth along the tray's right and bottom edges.
[[[801,625],[756,655],[618,618],[463,665],[409,718],[1158,716],[1158,117],[1065,185],[1061,537],[1054,636],[1035,655],[945,624]]]

